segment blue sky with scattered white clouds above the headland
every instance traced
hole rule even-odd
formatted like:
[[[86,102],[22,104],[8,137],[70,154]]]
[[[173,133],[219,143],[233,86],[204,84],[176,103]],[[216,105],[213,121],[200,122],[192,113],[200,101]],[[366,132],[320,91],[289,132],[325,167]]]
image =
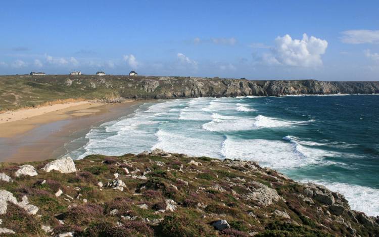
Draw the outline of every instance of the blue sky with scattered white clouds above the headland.
[[[2,1],[0,74],[379,80],[378,1]]]

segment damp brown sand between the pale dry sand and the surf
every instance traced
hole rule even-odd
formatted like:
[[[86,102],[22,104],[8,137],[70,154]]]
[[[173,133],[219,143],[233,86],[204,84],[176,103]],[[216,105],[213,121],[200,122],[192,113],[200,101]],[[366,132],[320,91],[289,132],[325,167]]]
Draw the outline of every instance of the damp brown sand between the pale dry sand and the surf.
[[[91,127],[131,114],[145,102],[82,104],[0,124],[0,162],[58,158],[67,153],[66,144]]]

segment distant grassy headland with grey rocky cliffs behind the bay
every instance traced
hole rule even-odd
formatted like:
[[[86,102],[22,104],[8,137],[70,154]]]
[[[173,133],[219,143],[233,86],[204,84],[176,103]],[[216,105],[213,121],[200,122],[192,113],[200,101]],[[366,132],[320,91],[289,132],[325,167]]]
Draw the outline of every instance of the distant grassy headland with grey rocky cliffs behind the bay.
[[[372,94],[378,81],[245,80],[201,77],[46,75],[0,76],[0,111],[65,99],[175,99],[282,96],[286,94]]]

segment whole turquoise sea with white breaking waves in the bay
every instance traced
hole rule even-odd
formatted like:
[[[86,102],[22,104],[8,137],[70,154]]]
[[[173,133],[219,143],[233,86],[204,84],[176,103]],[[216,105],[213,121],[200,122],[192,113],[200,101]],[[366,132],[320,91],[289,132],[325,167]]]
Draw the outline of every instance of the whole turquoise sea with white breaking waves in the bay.
[[[160,148],[255,160],[326,185],[352,209],[379,215],[379,96],[198,98],[146,103],[93,128],[70,155]]]

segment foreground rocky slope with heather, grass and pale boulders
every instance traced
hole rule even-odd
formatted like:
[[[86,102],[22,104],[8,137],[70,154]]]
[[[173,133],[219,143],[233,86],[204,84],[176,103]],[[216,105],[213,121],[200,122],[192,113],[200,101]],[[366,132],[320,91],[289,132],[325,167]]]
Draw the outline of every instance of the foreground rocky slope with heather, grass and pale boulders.
[[[377,236],[343,195],[256,162],[162,150],[0,164],[3,236]]]

